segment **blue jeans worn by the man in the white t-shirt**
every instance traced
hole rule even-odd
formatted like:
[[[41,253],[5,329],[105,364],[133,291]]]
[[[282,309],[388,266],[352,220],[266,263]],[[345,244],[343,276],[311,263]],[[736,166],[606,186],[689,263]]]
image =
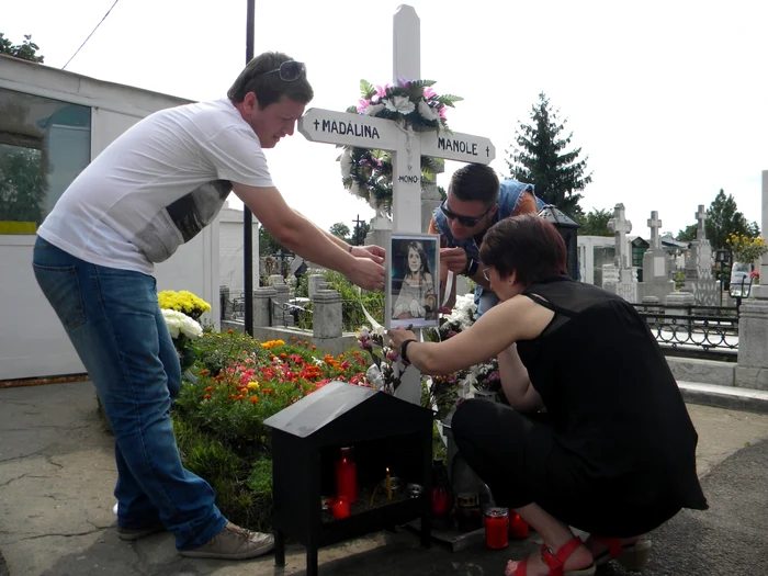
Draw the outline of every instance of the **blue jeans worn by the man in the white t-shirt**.
[[[169,414],[181,368],[155,279],[91,264],[39,237],[33,268],[115,434],[117,524],[142,529],[159,520],[179,550],[206,543],[227,520],[213,488],[181,464]]]

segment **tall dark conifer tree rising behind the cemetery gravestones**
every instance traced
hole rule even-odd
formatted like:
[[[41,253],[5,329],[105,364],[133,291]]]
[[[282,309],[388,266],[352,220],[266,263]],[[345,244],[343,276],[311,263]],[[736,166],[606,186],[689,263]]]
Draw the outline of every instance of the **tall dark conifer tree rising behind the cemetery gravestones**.
[[[535,185],[537,195],[547,204],[554,204],[572,216],[583,214],[578,205],[583,191],[592,181],[591,172],[585,173],[587,160],[578,160],[581,148],[565,151],[573,133],[561,137],[567,121],[561,122],[558,110],[550,109],[544,92],[531,108],[532,125],[519,122],[512,150],[507,150],[507,166],[511,178]]]

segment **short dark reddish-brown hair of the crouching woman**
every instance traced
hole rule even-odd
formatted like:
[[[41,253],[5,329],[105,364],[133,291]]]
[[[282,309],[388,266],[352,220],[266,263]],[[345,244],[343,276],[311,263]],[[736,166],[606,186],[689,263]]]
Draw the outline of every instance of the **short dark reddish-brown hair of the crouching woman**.
[[[565,242],[557,228],[535,214],[504,218],[483,238],[481,260],[501,278],[512,272],[526,287],[546,278],[567,274]]]

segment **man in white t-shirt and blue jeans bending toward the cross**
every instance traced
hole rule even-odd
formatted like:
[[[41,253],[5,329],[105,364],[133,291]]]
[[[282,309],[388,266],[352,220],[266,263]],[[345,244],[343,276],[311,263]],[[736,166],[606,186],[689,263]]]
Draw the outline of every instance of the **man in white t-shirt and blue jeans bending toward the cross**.
[[[208,225],[230,191],[280,244],[366,290],[384,287],[384,250],[323,231],[272,183],[262,149],[293,134],[313,98],[302,63],[262,54],[227,95],[156,112],[113,142],[41,226],[33,267],[115,433],[120,538],[168,529],[184,556],[241,560],[273,539],[229,523],[181,464],[169,417],[181,369],[154,263]]]

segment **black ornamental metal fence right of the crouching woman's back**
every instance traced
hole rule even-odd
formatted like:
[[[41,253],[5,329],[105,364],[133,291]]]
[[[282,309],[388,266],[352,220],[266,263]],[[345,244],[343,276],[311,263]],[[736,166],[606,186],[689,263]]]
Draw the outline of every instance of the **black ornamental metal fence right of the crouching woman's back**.
[[[666,355],[735,362],[738,308],[633,304]]]

